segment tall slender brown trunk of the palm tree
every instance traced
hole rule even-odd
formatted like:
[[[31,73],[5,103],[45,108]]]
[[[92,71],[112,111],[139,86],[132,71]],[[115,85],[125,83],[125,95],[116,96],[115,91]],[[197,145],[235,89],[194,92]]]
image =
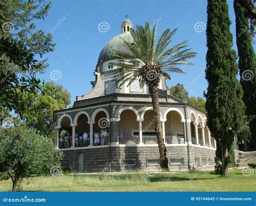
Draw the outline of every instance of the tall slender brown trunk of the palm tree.
[[[153,120],[156,125],[156,135],[157,135],[157,143],[159,148],[159,154],[160,154],[160,166],[163,169],[168,170],[168,159],[166,156],[166,147],[164,145],[164,139],[163,139],[163,131],[161,127],[161,121],[160,121],[160,106],[159,106],[159,94],[158,94],[158,85],[152,84],[150,86],[150,94],[152,99],[152,105],[153,105]]]

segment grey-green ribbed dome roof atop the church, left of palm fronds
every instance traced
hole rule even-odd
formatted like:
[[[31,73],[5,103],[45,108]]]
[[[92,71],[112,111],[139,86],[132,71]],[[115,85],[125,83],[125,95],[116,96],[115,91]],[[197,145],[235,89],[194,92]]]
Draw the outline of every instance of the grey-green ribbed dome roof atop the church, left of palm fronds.
[[[126,42],[133,42],[133,38],[130,32],[122,33],[122,35],[117,35],[116,37],[112,38],[109,42],[107,42],[107,44],[103,47],[102,51],[99,53],[98,62],[111,59],[111,54],[113,54],[113,50],[129,52],[129,50],[127,50],[127,48],[122,44],[122,38],[125,39]]]

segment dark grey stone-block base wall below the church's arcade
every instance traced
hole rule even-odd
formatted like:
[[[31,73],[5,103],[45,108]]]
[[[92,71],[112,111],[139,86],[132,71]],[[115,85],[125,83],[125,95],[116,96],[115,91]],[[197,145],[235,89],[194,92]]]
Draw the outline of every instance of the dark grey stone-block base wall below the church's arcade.
[[[187,146],[167,146],[170,171],[188,170]],[[214,169],[215,150],[190,146],[190,166],[201,170]],[[158,146],[88,147],[63,150],[63,166],[77,172],[108,172],[159,167]]]

